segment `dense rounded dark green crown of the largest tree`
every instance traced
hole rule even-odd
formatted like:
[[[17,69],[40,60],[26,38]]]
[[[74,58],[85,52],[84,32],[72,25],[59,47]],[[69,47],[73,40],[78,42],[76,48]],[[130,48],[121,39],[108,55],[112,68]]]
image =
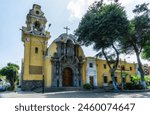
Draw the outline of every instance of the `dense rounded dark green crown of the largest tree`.
[[[116,39],[126,35],[128,21],[124,8],[119,4],[93,4],[82,18],[76,35],[84,45],[94,43],[94,49],[108,48]]]

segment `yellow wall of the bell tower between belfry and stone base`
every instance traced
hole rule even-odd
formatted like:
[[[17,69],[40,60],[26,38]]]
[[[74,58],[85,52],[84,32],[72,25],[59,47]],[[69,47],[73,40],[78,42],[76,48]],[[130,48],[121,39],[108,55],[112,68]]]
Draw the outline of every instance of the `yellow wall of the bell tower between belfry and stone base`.
[[[27,40],[28,39],[28,40]],[[24,42],[24,73],[23,80],[43,80],[43,74],[29,74],[29,66],[44,65],[43,51],[46,52],[48,38],[33,36],[23,33],[22,41]],[[38,53],[35,53],[35,47],[38,48]],[[44,71],[44,68],[42,69]]]

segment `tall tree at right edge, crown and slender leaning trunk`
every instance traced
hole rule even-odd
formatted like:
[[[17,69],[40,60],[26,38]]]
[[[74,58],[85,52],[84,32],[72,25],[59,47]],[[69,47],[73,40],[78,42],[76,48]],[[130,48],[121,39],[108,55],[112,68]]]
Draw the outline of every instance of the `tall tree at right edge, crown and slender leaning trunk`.
[[[150,42],[150,10],[148,9],[148,4],[143,3],[137,5],[133,10],[135,17],[130,20],[128,27],[128,35],[126,39],[121,39],[120,44],[122,49],[126,53],[135,53],[138,62],[138,69],[141,76],[141,84],[146,88],[146,83],[144,80],[144,70],[142,68],[142,62],[140,59],[140,54],[143,48]]]

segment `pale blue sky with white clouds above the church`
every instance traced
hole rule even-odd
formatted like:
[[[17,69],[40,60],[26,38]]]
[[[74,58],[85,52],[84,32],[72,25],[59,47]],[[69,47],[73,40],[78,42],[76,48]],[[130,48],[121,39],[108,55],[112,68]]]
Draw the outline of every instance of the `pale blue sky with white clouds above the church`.
[[[49,45],[60,34],[64,33],[65,26],[70,28],[69,33],[77,29],[82,16],[89,5],[95,0],[0,0],[0,68],[8,62],[21,65],[24,56],[24,46],[21,41],[22,26],[26,26],[26,15],[32,9],[33,4],[41,5],[48,24],[51,27]],[[110,0],[104,0],[108,2]],[[132,10],[136,4],[150,3],[150,0],[120,0],[125,7],[128,17],[133,18]],[[92,47],[84,47],[86,56],[94,56]],[[129,58],[130,57],[130,58]],[[127,61],[136,62],[135,56],[122,56]],[[147,63],[146,61],[143,61]]]

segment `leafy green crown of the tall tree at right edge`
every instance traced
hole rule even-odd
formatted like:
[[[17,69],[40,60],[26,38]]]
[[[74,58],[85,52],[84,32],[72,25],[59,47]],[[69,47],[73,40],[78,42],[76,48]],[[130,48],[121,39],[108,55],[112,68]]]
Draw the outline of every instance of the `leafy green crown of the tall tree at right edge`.
[[[150,17],[145,14],[147,10],[144,13],[142,13],[142,10],[141,14],[140,9],[137,8],[139,7],[133,10],[136,15],[130,20],[128,36],[126,39],[121,39],[120,42],[120,44],[123,45],[122,49],[124,49],[126,53],[141,53],[143,47],[150,41]]]

